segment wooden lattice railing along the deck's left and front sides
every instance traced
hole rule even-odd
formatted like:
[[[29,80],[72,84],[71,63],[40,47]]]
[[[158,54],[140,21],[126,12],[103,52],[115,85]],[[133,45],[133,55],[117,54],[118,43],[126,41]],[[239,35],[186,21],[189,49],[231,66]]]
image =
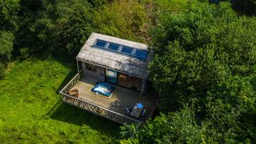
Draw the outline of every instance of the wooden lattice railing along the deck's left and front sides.
[[[70,88],[75,86],[75,84],[77,83],[79,78],[80,78],[80,72],[77,73],[77,75],[75,75],[75,77],[73,77],[72,80],[70,80],[70,82],[68,82],[67,85],[60,91],[60,94],[62,95],[63,102],[66,102],[70,105],[74,105],[83,110],[92,112],[95,115],[106,117],[109,120],[113,120],[113,121],[121,123],[121,124],[143,123],[143,121],[141,121],[141,120],[136,120],[132,117],[122,115],[118,112],[114,112],[112,110],[105,109],[104,107],[100,107],[98,105],[93,105],[90,102],[86,102],[85,100],[81,100],[79,98],[72,97],[72,96],[68,95],[68,91],[70,90]]]

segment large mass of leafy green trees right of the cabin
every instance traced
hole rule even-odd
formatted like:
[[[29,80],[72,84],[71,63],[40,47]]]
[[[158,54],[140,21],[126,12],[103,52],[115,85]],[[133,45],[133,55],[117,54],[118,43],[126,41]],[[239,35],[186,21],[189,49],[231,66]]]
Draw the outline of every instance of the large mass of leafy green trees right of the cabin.
[[[237,16],[227,2],[190,1],[186,9],[163,11],[151,32],[150,80],[158,108],[172,112],[122,128],[123,141],[255,143],[255,18]]]

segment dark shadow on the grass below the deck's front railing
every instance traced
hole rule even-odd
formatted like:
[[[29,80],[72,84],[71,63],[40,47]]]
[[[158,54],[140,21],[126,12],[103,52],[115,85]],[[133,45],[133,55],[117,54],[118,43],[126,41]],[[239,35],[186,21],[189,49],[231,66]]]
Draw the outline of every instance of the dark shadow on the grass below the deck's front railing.
[[[89,125],[90,128],[107,133],[108,135],[117,136],[119,133],[120,124],[66,103],[61,103],[49,117],[74,125]]]

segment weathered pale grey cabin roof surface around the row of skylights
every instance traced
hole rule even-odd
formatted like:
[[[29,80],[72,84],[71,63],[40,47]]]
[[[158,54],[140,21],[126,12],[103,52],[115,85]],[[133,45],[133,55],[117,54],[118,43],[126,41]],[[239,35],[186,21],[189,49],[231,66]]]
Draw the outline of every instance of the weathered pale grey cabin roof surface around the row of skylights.
[[[94,44],[97,39],[148,51],[148,46],[146,44],[93,32],[87,39],[87,42],[85,42],[85,45],[80,50],[79,54],[77,54],[77,60],[115,69],[143,79],[148,78],[147,67],[148,62],[151,61],[152,52],[148,51],[146,59],[138,59],[136,57],[95,47]]]

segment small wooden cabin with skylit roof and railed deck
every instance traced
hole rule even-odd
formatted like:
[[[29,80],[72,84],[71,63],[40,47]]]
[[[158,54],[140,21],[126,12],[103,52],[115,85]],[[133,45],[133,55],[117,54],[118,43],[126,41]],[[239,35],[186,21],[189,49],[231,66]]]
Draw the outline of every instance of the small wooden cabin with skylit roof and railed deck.
[[[77,75],[61,90],[62,100],[118,123],[143,123],[156,107],[156,95],[148,92],[151,58],[146,44],[92,33],[77,54]],[[96,82],[113,85],[113,95],[95,95],[91,90]],[[78,95],[70,95],[70,90]],[[136,103],[145,106],[143,117],[126,115],[125,108]]]

